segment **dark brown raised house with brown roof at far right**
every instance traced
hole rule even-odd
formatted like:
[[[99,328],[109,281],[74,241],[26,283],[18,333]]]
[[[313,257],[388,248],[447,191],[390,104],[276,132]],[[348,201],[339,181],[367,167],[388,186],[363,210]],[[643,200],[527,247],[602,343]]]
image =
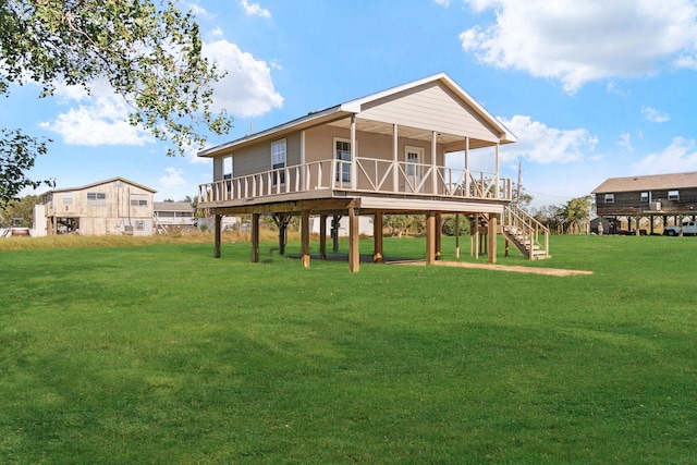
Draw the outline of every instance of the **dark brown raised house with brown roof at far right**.
[[[635,219],[660,217],[665,225],[669,217],[680,222],[682,217],[697,215],[697,172],[610,178],[596,187],[596,213],[602,218]],[[639,233],[640,229],[635,228]]]

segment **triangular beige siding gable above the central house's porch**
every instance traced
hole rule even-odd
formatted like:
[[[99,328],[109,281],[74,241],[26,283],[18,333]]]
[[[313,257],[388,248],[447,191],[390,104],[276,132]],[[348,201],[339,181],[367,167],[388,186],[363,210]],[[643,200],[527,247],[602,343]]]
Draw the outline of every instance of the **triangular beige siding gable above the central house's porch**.
[[[499,134],[448,88],[429,83],[366,106],[359,118],[497,142]]]

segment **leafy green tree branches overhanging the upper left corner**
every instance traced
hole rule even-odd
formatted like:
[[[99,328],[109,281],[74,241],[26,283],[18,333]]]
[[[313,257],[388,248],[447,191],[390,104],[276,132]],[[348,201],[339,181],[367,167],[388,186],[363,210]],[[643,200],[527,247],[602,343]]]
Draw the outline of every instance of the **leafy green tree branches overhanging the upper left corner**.
[[[194,15],[174,1],[0,0],[0,95],[13,84],[89,91],[106,79],[130,105],[129,121],[170,142],[168,155],[203,147],[206,133],[225,134],[231,118],[212,110],[212,85],[222,73],[201,54]],[[37,182],[26,178],[46,140],[2,132],[0,168],[19,175],[0,181],[0,207]],[[37,150],[37,147],[42,147]],[[16,174],[16,173],[15,173]],[[40,183],[40,182],[38,182]]]

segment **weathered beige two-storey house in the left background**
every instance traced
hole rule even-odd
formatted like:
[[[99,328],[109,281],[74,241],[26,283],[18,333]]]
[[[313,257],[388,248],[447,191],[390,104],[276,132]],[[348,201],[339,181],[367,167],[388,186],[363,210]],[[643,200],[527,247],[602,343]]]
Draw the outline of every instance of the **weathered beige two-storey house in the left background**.
[[[46,218],[45,231],[36,234],[151,235],[155,193],[123,178],[49,191],[37,210]]]

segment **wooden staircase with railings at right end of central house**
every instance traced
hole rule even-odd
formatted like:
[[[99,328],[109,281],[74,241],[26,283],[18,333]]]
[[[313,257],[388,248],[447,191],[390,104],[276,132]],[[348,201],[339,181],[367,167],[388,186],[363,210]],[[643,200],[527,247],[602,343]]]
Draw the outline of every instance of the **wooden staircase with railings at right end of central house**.
[[[549,255],[549,229],[517,205],[503,209],[501,233],[530,260],[551,258]]]

